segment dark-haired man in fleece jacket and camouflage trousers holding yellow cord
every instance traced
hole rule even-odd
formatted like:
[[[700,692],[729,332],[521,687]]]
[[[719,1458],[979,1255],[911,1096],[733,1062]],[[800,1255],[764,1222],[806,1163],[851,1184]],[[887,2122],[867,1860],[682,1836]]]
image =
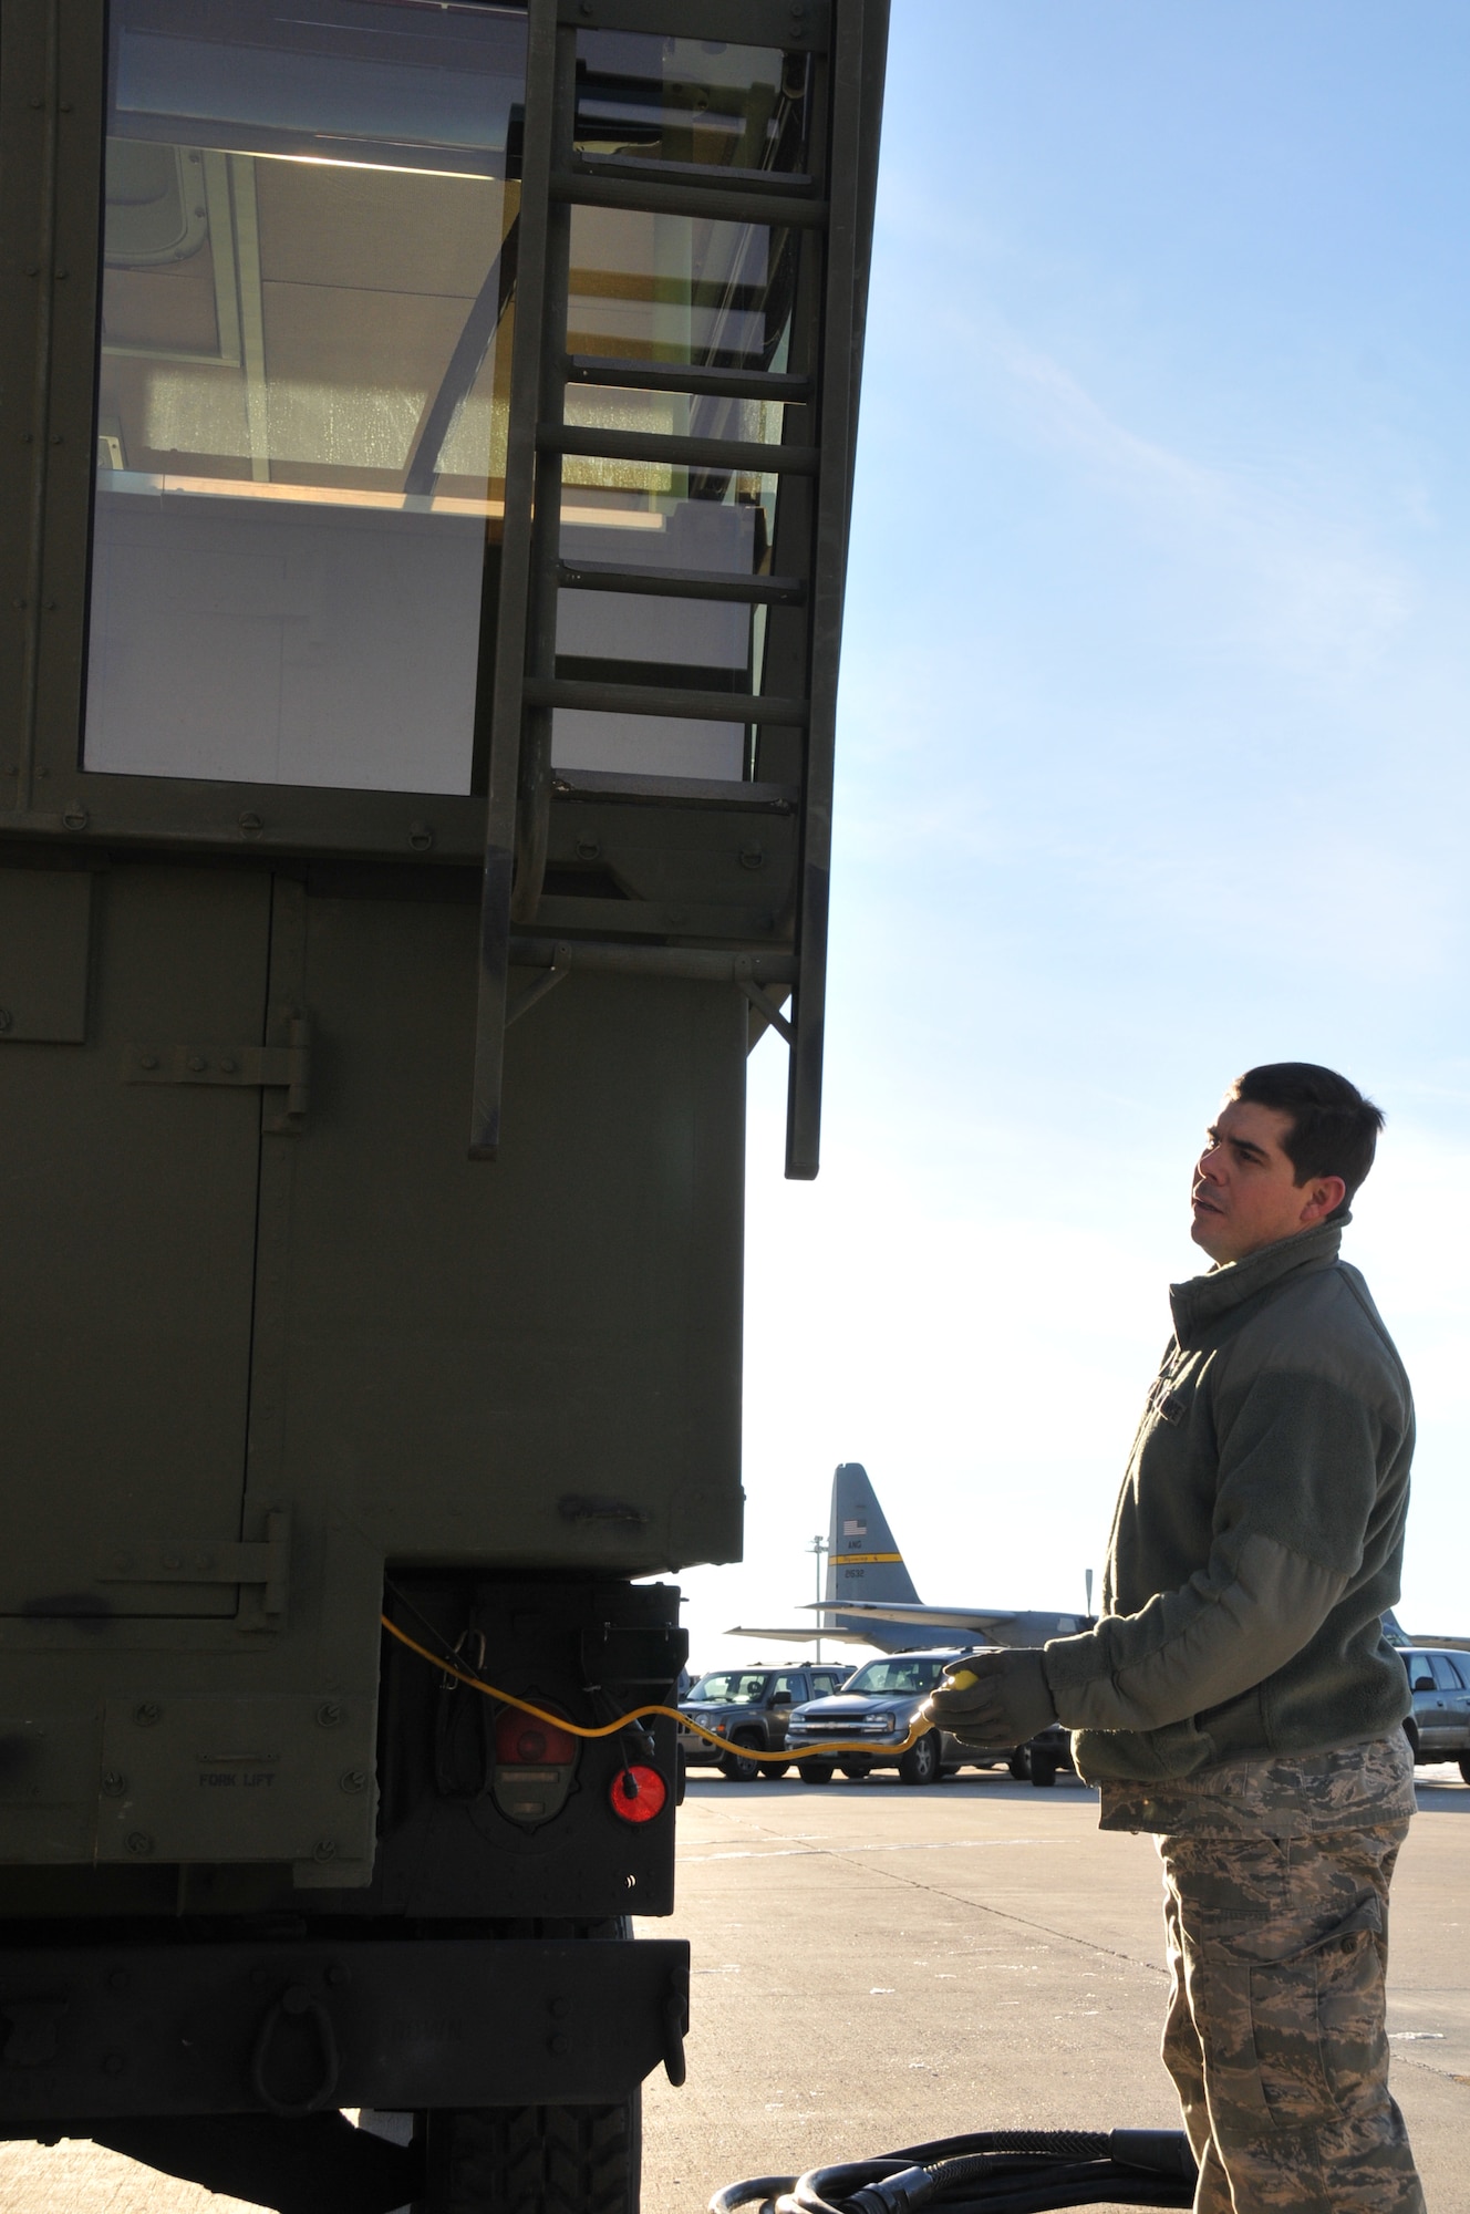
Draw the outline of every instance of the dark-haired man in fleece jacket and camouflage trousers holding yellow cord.
[[[1333,1069],[1238,1078],[1193,1182],[1213,1269],[1169,1293],[1098,1625],[972,1656],[932,1700],[979,1745],[1060,1718],[1102,1829],[1156,1833],[1195,2214],[1424,2214],[1384,2030],[1415,1415],[1337,1255],[1381,1125]]]

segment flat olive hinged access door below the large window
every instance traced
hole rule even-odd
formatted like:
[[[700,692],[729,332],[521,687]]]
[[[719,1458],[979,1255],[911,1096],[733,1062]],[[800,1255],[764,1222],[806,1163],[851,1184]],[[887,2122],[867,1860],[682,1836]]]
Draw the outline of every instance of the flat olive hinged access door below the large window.
[[[0,1612],[235,1614],[270,879],[4,866],[0,925]]]

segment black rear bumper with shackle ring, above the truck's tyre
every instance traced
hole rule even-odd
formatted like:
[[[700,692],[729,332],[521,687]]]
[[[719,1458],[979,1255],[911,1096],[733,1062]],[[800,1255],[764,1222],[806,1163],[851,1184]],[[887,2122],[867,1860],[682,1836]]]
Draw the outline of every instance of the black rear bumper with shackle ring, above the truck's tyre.
[[[600,2106],[682,2068],[689,1946],[4,1946],[0,2137],[75,2117]],[[680,2075],[682,2079],[682,2075]]]

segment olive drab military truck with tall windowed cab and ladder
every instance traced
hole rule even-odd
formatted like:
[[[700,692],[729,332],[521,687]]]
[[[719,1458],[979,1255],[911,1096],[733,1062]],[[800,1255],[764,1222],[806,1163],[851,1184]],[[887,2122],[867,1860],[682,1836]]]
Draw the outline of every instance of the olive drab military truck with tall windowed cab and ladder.
[[[886,0],[0,38],[0,2134],[627,2207]]]

